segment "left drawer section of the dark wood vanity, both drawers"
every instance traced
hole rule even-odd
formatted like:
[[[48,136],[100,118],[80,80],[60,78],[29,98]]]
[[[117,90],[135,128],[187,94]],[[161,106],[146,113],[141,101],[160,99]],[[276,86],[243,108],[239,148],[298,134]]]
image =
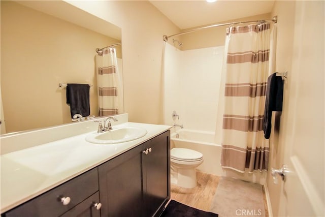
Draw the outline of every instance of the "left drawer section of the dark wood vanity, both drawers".
[[[100,216],[98,169],[94,168],[6,212],[6,217]],[[64,201],[63,199],[66,200]],[[62,200],[61,200],[62,199]],[[66,205],[63,205],[63,202]],[[90,213],[87,215],[87,213]]]

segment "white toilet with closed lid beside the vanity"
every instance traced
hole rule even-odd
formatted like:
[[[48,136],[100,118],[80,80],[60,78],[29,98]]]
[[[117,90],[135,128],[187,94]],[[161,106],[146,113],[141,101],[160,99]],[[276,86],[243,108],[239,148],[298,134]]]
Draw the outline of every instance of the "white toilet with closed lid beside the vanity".
[[[171,183],[182,188],[197,186],[195,169],[203,163],[203,154],[187,148],[171,149]]]

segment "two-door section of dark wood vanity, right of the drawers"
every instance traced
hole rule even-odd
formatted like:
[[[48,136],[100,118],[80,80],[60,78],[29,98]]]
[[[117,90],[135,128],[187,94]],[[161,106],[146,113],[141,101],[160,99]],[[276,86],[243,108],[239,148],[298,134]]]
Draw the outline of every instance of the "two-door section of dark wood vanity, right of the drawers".
[[[102,216],[158,216],[170,199],[170,132],[99,166]]]

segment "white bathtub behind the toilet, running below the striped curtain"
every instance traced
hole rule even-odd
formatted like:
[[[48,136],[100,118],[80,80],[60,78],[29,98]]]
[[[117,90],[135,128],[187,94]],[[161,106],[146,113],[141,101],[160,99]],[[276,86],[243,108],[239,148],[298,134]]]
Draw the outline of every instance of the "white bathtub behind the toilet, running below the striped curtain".
[[[180,129],[171,134],[171,148],[189,148],[200,151],[203,154],[203,163],[197,169],[202,172],[265,184],[267,173],[240,173],[230,169],[223,170],[220,165],[221,145],[214,143],[214,137],[215,132]]]

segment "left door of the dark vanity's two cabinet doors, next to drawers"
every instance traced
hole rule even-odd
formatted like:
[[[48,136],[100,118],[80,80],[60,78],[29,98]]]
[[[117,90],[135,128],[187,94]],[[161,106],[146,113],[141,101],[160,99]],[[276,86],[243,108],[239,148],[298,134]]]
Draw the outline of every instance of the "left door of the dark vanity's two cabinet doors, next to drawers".
[[[142,145],[99,166],[102,216],[142,216]]]

